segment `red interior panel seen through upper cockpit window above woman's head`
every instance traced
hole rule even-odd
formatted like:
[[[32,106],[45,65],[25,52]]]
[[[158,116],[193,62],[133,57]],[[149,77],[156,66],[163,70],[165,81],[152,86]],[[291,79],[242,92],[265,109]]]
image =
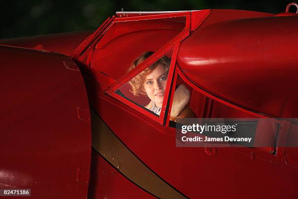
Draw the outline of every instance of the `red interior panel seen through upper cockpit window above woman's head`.
[[[179,19],[184,20],[177,22],[174,19],[171,19],[174,21],[150,19],[113,23],[96,44],[91,58],[91,67],[120,81],[120,78],[127,74],[132,61],[143,52],[153,51],[157,55],[157,50],[159,52],[171,50],[174,39],[178,38],[178,34],[186,25],[185,17],[179,17]],[[134,45],[131,45],[132,43]],[[161,50],[162,47],[164,49]],[[111,51],[116,59],[111,59]]]

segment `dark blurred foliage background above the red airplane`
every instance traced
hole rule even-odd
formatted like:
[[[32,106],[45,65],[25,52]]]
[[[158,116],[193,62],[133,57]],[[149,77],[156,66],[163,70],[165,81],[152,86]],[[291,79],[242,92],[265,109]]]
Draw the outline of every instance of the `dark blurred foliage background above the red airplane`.
[[[285,11],[294,0],[0,0],[0,38],[96,29],[116,11]],[[293,7],[293,6],[292,6]],[[291,10],[296,11],[292,8]],[[290,11],[291,11],[290,10]]]

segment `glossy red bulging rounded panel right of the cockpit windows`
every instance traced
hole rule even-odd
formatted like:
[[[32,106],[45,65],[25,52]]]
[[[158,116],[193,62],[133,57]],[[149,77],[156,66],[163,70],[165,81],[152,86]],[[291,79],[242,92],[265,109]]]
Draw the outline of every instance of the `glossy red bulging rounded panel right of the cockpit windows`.
[[[178,64],[221,99],[267,116],[298,117],[297,22],[290,16],[213,23],[182,42]]]

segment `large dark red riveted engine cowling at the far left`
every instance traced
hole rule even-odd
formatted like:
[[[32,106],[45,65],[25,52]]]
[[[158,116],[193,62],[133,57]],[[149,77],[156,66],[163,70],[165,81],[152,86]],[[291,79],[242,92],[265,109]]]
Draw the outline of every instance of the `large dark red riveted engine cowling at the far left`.
[[[91,123],[78,119],[77,106],[89,109],[80,71],[67,69],[63,62],[73,61],[60,54],[6,46],[0,53],[0,188],[31,188],[35,199],[86,198]]]

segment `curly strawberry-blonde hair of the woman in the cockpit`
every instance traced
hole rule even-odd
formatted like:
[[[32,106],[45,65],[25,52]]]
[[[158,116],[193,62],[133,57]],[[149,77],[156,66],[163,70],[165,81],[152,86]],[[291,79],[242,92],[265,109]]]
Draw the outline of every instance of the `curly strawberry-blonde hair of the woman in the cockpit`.
[[[139,56],[132,62],[128,71],[135,68],[135,66],[138,66],[139,64],[141,64],[145,59],[147,59],[152,54],[153,54],[152,51],[144,52],[141,56]],[[158,65],[164,66],[168,73],[170,62],[171,62],[171,59],[168,58],[166,55],[164,55],[159,60],[154,62],[152,65],[150,65],[148,68],[146,68],[145,70],[137,74],[134,78],[132,78],[129,81],[130,92],[133,93],[134,96],[147,95],[143,86],[146,76],[149,75]]]

